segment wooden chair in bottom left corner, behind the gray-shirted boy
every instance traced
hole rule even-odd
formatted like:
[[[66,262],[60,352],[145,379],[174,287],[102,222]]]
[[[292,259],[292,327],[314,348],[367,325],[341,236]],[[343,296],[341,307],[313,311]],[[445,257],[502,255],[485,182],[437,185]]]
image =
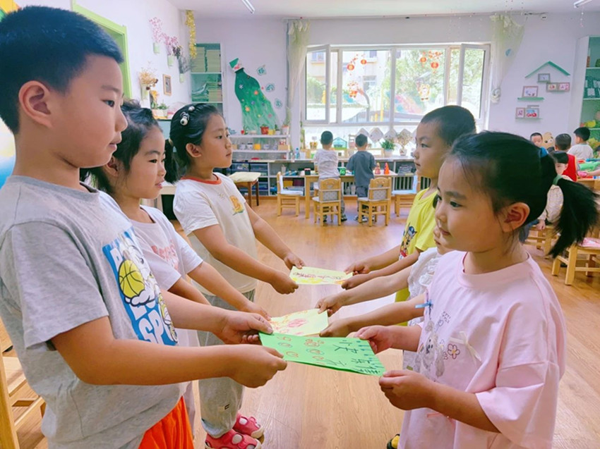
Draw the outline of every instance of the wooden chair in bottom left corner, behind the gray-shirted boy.
[[[0,326],[2,324],[0,323]],[[0,355],[0,447],[19,449],[17,430],[33,412],[40,410],[42,417],[46,402],[40,396],[23,398],[30,390],[25,374],[17,357]],[[15,419],[13,407],[27,407],[25,412]]]

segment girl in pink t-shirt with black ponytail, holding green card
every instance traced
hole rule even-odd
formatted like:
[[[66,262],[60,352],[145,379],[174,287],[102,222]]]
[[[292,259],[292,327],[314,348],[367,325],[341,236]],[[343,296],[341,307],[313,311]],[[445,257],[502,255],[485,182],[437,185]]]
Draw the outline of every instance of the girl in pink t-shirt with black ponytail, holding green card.
[[[519,164],[515,166],[514,161]],[[373,350],[416,350],[414,371],[380,387],[409,410],[401,448],[550,448],[565,322],[551,286],[518,240],[552,185],[563,191],[556,257],[599,222],[596,195],[556,175],[549,156],[515,135],[461,137],[438,182],[441,257],[419,326],[370,326]]]

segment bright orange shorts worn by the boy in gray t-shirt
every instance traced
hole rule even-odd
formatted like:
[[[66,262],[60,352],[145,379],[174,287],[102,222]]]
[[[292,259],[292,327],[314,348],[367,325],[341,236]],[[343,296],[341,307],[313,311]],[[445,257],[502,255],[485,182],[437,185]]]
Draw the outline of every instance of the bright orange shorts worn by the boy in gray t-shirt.
[[[144,433],[140,449],[193,449],[193,436],[184,398],[166,417]]]

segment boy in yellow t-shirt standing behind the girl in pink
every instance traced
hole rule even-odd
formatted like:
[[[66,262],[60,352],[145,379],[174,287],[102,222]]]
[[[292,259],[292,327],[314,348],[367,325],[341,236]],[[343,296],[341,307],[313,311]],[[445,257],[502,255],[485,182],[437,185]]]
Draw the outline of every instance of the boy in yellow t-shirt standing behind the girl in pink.
[[[343,288],[354,288],[370,279],[397,273],[414,264],[420,252],[436,246],[433,241],[433,228],[436,225],[433,199],[436,196],[440,166],[450,152],[452,143],[461,135],[474,132],[473,114],[461,106],[443,106],[426,113],[416,128],[416,149],[413,156],[417,175],[430,178],[431,185],[416,194],[400,245],[348,266],[346,272],[352,272],[354,276],[342,283]],[[404,301],[408,295],[408,290],[404,288],[396,297],[397,300]]]

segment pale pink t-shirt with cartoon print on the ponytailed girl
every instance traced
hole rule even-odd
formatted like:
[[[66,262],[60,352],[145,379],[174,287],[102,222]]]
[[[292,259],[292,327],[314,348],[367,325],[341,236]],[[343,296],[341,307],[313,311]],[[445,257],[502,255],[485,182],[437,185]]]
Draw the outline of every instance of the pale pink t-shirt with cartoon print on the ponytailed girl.
[[[566,344],[556,295],[531,257],[469,275],[464,256],[438,263],[414,369],[476,393],[500,433],[422,408],[404,415],[400,447],[551,448]]]

